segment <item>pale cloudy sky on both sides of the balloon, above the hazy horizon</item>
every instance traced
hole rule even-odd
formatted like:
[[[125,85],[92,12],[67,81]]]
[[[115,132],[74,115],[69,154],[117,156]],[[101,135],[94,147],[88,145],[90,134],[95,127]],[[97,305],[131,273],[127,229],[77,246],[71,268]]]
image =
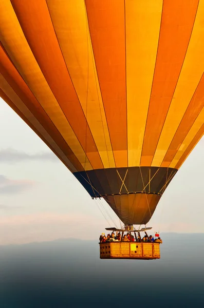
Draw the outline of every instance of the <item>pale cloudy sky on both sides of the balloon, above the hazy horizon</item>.
[[[204,138],[164,192],[154,232],[204,233]],[[0,245],[98,239],[120,221],[0,98]]]

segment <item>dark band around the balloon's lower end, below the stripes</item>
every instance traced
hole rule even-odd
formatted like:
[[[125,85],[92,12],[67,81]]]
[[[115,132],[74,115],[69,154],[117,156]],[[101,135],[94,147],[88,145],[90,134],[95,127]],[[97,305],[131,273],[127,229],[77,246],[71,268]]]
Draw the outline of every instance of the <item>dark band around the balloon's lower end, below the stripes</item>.
[[[119,194],[162,195],[177,169],[167,167],[122,167],[74,172],[91,197]]]

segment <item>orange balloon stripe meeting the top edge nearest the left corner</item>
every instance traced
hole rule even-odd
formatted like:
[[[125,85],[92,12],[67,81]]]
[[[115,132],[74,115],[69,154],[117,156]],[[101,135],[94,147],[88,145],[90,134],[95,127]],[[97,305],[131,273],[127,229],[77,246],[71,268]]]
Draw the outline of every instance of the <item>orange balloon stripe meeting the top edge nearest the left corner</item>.
[[[88,160],[93,168],[103,168],[98,149],[71,82],[46,1],[12,0],[11,2],[35,59]]]

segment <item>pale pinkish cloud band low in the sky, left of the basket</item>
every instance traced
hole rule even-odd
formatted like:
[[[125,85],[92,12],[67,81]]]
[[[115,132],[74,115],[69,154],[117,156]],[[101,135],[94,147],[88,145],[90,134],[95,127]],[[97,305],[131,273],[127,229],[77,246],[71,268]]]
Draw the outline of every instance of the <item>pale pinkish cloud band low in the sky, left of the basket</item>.
[[[91,223],[90,223],[91,222]],[[0,245],[53,241],[60,238],[98,240],[105,232],[103,220],[70,213],[13,215],[0,220]]]

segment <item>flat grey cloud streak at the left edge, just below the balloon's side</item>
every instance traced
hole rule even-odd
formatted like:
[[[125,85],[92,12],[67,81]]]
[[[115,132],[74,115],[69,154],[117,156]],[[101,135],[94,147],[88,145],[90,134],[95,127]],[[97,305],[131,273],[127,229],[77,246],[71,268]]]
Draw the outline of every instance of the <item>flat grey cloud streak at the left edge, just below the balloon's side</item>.
[[[0,163],[17,163],[21,161],[33,161],[33,160],[41,160],[41,161],[53,161],[57,162],[59,159],[54,153],[50,152],[41,152],[35,154],[27,154],[22,151],[17,151],[12,148],[2,149],[0,150]]]

